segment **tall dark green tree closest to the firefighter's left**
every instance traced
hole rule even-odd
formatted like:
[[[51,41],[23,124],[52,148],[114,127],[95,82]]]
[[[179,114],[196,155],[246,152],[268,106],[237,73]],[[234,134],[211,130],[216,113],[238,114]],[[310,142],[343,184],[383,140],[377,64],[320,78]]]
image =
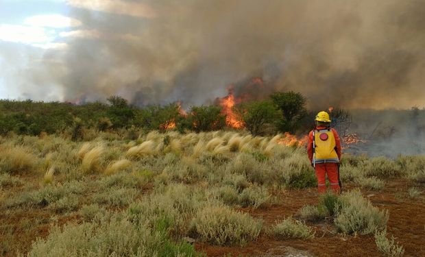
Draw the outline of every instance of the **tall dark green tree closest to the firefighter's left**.
[[[306,116],[307,99],[301,93],[277,92],[270,96],[276,107],[282,112],[282,119],[278,121],[278,128],[282,132],[295,133],[299,121]]]

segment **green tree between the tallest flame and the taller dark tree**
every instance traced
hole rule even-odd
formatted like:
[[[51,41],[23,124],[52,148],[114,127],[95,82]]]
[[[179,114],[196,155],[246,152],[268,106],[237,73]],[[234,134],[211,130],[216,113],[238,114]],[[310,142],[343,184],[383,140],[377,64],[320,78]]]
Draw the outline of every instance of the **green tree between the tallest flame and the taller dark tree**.
[[[279,117],[274,103],[267,100],[239,103],[234,110],[253,136],[263,134],[266,125],[274,123]]]

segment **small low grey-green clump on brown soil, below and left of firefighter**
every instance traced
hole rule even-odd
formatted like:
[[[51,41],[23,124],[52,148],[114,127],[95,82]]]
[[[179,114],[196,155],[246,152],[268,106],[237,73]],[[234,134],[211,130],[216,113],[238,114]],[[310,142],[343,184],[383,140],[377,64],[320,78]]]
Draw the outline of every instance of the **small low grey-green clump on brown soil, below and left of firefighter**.
[[[302,221],[297,221],[292,217],[288,217],[280,221],[272,228],[274,235],[281,238],[300,238],[311,239],[314,238],[315,232],[313,228],[309,227]]]

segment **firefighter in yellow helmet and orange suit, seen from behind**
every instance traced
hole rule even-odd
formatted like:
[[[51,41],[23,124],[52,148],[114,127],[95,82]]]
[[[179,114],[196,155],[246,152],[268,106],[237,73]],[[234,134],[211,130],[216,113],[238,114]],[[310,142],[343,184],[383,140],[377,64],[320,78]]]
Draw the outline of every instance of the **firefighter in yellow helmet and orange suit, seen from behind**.
[[[307,151],[311,165],[315,168],[319,193],[326,192],[326,175],[332,191],[341,193],[341,140],[337,131],[330,127],[328,112],[319,112],[316,115],[315,128],[308,134]]]

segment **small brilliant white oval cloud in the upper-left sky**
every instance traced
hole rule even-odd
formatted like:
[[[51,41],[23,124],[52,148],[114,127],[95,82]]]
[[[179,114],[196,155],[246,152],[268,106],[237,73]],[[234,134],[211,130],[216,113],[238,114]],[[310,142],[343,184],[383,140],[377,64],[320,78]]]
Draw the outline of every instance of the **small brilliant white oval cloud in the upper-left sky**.
[[[42,14],[30,16],[24,23],[32,27],[78,27],[82,25],[81,21],[60,14]]]

